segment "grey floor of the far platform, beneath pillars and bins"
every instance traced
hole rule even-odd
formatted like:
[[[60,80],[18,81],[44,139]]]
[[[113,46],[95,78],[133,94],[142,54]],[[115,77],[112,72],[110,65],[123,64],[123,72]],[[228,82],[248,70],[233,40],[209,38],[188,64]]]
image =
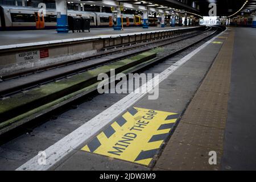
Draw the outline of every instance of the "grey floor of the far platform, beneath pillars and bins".
[[[122,31],[113,30],[113,28],[91,28],[90,32],[75,32],[69,31],[68,34],[58,34],[56,30],[26,30],[26,31],[0,31],[0,46],[6,46],[10,44],[22,44],[22,43],[34,43],[44,42],[51,40],[63,40],[63,39],[75,39],[90,36],[102,36],[102,35],[118,35],[129,34],[134,32],[146,32],[154,30],[169,30],[174,28],[184,27],[124,27]]]

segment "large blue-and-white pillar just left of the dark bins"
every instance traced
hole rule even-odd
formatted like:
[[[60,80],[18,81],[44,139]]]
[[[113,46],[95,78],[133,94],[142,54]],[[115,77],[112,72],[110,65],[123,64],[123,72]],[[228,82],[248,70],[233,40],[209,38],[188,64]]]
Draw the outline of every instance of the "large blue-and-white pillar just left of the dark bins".
[[[67,0],[56,0],[57,32],[68,33]]]

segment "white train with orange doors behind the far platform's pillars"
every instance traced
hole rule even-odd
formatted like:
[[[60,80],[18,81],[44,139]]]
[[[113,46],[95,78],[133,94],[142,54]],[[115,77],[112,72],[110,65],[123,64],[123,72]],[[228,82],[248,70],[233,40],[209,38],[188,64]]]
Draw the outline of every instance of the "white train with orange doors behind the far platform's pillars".
[[[68,10],[68,16],[90,18],[90,27],[113,27],[112,13]],[[39,8],[25,6],[0,6],[0,30],[38,30],[56,28],[56,10],[46,9],[40,15]],[[141,15],[122,14],[123,26],[142,26]]]

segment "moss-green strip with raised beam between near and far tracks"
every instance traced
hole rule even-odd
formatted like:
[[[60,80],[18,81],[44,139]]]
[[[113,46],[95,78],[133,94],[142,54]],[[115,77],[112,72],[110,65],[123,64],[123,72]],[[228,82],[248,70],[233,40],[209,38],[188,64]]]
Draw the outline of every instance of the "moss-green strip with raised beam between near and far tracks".
[[[98,73],[105,72],[109,74],[110,65],[112,68],[117,69],[118,72],[123,72],[126,74],[136,72],[142,68],[157,63],[158,61],[167,59],[176,53],[184,51],[184,49],[187,49],[188,47],[201,42],[209,36],[212,36],[217,31],[215,28],[213,29],[209,28],[208,30],[200,31],[193,35],[187,35],[181,38],[178,37],[168,39],[166,41],[159,41],[158,43],[149,43],[147,47],[136,45],[140,48],[136,48],[135,50],[133,48],[129,50],[130,52],[127,51],[128,53],[119,53],[121,55],[118,58],[111,58],[110,55],[109,59],[98,60],[98,62],[94,63],[93,65],[91,65],[88,61],[82,61],[81,63],[87,64],[86,67],[83,67],[82,69],[81,67],[77,66],[79,63],[71,64],[73,67],[79,67],[79,71],[75,70],[72,73],[69,71],[64,73],[59,71],[59,68],[65,67],[57,67],[58,69],[54,67],[51,70],[57,70],[58,72],[53,74],[53,76],[49,76],[49,72],[47,71],[42,72],[49,76],[47,77],[48,80],[43,78],[44,82],[42,82],[42,77],[37,75],[38,73],[30,74],[26,77],[19,77],[28,78],[30,76],[34,76],[35,81],[33,82],[30,79],[30,82],[27,84],[30,84],[30,88],[26,87],[26,89],[22,90],[15,90],[17,87],[13,87],[15,89],[11,88],[14,92],[11,94],[9,93],[9,96],[5,96],[5,99],[0,101],[0,134],[4,134],[18,126],[22,126],[28,121],[34,121],[35,118],[39,118],[44,114],[51,113],[53,110],[63,107],[64,105],[67,105],[81,97],[86,96],[86,94],[93,92],[97,89]],[[190,42],[184,43],[186,40],[189,40]],[[155,49],[156,47],[158,47],[158,49]],[[95,59],[92,60],[95,61]],[[126,60],[126,62],[123,63],[123,60]],[[118,66],[120,63],[123,64],[122,67]],[[90,74],[88,74],[88,72],[90,72]],[[16,80],[19,78],[16,78]],[[15,79],[7,79],[7,81],[12,80]],[[1,82],[1,85],[4,83],[5,81]],[[26,84],[22,83],[21,85]],[[9,91],[11,89],[9,89]]]

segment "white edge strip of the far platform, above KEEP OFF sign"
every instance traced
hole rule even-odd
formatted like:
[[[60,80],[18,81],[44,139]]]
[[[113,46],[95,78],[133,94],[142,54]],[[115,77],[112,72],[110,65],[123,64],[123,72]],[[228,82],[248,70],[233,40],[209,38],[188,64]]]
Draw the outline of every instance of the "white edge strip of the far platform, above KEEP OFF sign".
[[[60,39],[60,40],[49,40],[49,41],[44,41],[44,42],[31,42],[31,43],[21,43],[21,44],[10,44],[10,45],[3,45],[0,46],[0,50],[2,49],[10,49],[10,48],[22,48],[22,47],[27,47],[27,46],[42,46],[42,45],[47,45],[47,44],[54,44],[54,43],[66,43],[66,42],[75,42],[79,40],[93,40],[93,39],[99,39],[99,38],[114,38],[118,36],[127,36],[127,35],[140,35],[140,34],[148,34],[151,32],[163,32],[163,31],[174,31],[174,30],[184,30],[188,28],[196,28],[196,27],[186,27],[186,28],[174,28],[174,29],[166,29],[166,30],[155,30],[155,31],[144,31],[144,32],[133,32],[133,33],[127,33],[127,34],[113,34],[113,35],[103,35],[103,36],[90,36],[90,37],[81,37],[81,38],[74,38],[74,39]],[[79,40],[77,40],[79,39]]]

